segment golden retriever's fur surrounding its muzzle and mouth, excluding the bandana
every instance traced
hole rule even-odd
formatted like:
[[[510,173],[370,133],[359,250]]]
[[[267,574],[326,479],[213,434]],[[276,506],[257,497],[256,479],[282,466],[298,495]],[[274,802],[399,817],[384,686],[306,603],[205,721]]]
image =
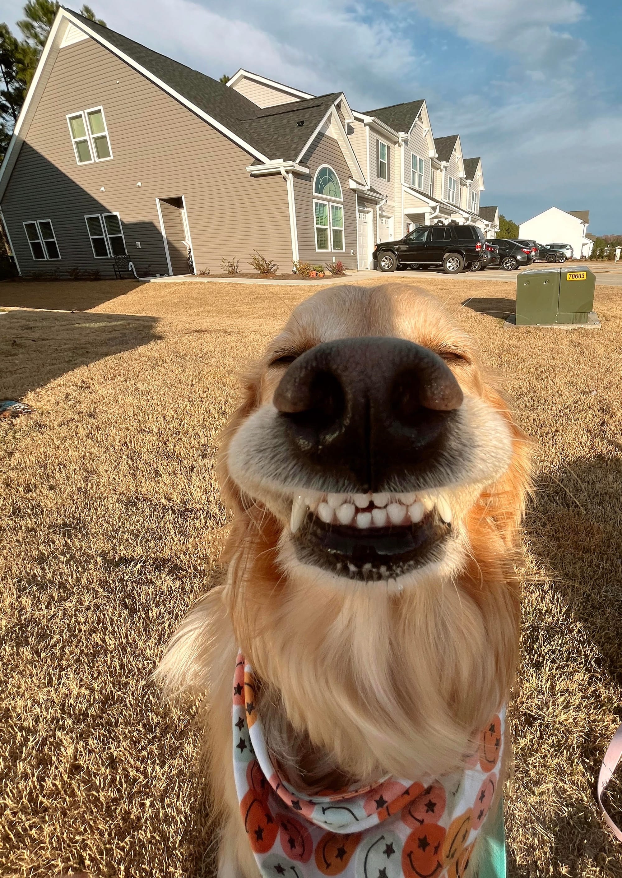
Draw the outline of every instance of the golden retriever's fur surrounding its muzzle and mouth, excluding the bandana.
[[[459,555],[423,570],[401,592],[382,583],[339,585],[297,565],[287,551],[286,501],[252,475],[243,486],[231,476],[235,437],[239,443],[250,416],[270,406],[283,375],[284,367],[271,366],[275,356],[356,335],[396,335],[459,357],[448,364],[473,403],[474,429],[503,421],[487,434],[491,459],[500,430],[509,436],[510,456],[495,464],[494,478],[452,488]],[[528,443],[474,343],[436,299],[398,284],[333,287],[303,302],[248,372],[242,404],[222,434],[220,479],[233,516],[227,580],[192,609],[158,673],[170,693],[206,694],[206,771],[223,827],[219,876],[257,878],[231,757],[238,647],[262,680],[259,710],[271,751],[299,787],[459,766],[474,730],[507,699],[515,673],[513,561]]]

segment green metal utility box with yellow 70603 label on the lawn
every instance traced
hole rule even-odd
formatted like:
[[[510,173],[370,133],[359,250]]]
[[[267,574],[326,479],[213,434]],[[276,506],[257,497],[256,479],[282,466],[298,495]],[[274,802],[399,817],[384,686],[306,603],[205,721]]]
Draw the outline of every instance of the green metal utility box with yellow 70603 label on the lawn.
[[[596,276],[589,269],[539,269],[517,277],[519,327],[588,323]]]

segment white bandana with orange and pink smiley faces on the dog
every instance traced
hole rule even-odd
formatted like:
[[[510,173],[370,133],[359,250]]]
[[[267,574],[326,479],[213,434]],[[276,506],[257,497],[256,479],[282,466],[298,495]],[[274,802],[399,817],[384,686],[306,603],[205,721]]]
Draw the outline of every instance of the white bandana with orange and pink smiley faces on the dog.
[[[264,878],[460,878],[495,795],[504,709],[455,774],[390,778],[365,789],[300,795],[279,776],[255,704],[255,679],[235,666],[233,753],[242,821]]]

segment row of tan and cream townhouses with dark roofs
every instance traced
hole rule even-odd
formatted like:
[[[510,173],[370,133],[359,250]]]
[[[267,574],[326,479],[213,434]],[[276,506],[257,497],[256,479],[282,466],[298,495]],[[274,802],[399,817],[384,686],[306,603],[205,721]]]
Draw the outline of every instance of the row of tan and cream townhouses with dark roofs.
[[[257,251],[350,270],[423,222],[475,222],[481,160],[424,100],[353,111],[238,70],[225,85],[61,7],[0,169],[22,274],[250,269]],[[488,223],[489,226],[489,223]]]

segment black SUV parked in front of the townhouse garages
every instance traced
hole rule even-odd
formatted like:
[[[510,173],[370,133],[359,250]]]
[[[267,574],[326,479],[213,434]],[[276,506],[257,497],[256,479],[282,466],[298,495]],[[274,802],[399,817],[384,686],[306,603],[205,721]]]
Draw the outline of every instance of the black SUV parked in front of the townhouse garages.
[[[380,271],[442,265],[447,274],[458,274],[484,255],[486,239],[477,226],[419,226],[400,241],[383,241],[372,258]]]

